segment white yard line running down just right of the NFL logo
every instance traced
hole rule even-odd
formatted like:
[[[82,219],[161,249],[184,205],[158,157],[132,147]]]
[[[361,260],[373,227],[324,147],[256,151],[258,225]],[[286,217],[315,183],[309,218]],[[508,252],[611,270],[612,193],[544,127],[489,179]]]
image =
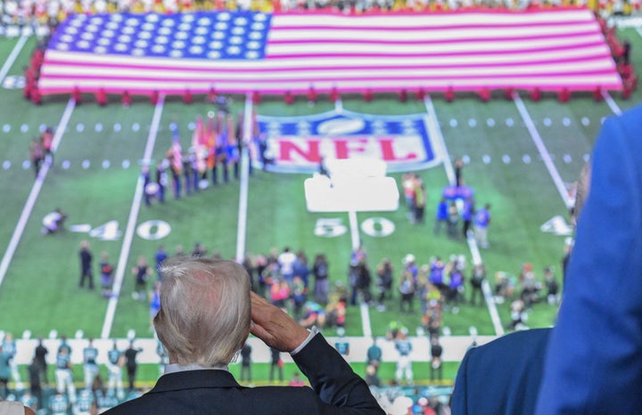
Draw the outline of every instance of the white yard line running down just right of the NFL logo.
[[[434,106],[432,105],[430,96],[425,97],[424,104],[426,112],[428,112],[428,117],[426,118],[428,134],[430,134],[431,137],[434,137],[434,141],[432,142],[435,143],[435,151],[437,154],[439,154],[440,159],[443,161],[449,183],[455,183],[455,169],[453,168],[452,162],[450,161],[449,152],[446,148],[446,142],[444,142],[443,134],[441,134],[441,128],[439,126],[439,123],[437,122],[437,113],[434,110]],[[461,210],[461,206],[459,207],[459,209]],[[470,249],[471,256],[473,257],[473,264],[481,264],[481,254],[479,248],[477,248],[477,241],[474,240],[472,232],[468,232],[466,241],[468,242],[468,248]],[[484,298],[486,299],[486,305],[490,313],[490,321],[492,321],[493,323],[495,333],[498,336],[502,336],[504,334],[504,327],[502,326],[501,320],[499,319],[499,313],[497,310],[497,305],[495,305],[495,300],[490,295],[489,283],[486,282],[486,284],[482,285],[482,289],[484,290]]]

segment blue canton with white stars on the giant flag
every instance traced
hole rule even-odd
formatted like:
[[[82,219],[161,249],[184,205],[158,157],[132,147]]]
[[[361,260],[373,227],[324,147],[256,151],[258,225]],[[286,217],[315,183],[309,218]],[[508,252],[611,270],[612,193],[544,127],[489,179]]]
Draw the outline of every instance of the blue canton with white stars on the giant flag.
[[[270,21],[271,15],[261,12],[73,14],[49,47],[151,58],[260,60]]]

